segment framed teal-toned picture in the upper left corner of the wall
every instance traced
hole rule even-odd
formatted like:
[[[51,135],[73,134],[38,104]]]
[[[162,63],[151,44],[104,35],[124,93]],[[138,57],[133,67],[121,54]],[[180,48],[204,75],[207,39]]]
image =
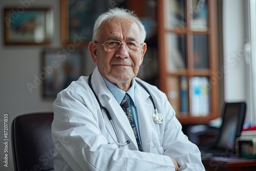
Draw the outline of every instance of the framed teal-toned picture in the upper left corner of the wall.
[[[5,8],[5,45],[46,45],[53,37],[50,8]]]

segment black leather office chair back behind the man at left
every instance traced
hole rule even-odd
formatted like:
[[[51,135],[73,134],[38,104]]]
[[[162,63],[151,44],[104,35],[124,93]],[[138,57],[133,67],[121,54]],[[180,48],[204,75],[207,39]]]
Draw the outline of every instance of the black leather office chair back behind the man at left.
[[[12,121],[12,154],[15,171],[54,170],[51,136],[53,113],[25,114]]]

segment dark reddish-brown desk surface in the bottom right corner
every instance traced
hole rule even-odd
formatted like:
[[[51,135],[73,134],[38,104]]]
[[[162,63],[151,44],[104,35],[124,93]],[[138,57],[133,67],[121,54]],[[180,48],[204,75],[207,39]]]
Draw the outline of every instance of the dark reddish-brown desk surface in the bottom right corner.
[[[212,157],[203,160],[206,171],[255,171],[256,159]]]

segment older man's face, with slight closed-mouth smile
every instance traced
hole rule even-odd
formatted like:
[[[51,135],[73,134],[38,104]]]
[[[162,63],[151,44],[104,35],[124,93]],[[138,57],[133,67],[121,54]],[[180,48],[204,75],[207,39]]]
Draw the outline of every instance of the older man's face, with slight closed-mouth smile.
[[[131,19],[115,18],[111,21],[104,21],[100,26],[100,44],[108,40],[118,40],[124,43],[129,40],[140,42],[138,25]],[[137,52],[129,52],[125,44],[121,44],[116,52],[108,52],[104,47],[93,42],[95,48],[89,49],[97,64],[101,75],[114,84],[127,84],[130,87],[131,80],[137,76],[139,66],[143,61],[146,52],[146,44],[141,45]],[[92,52],[93,51],[93,52]],[[129,85],[128,85],[129,84]],[[118,86],[119,87],[119,86]],[[120,87],[119,87],[120,88]]]

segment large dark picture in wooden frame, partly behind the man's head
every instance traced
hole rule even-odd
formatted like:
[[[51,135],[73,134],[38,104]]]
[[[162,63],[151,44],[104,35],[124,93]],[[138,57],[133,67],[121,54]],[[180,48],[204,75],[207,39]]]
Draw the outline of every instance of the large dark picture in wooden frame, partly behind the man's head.
[[[119,2],[119,3],[117,3]],[[125,1],[60,0],[60,41],[62,45],[83,45],[92,40],[97,17]]]

